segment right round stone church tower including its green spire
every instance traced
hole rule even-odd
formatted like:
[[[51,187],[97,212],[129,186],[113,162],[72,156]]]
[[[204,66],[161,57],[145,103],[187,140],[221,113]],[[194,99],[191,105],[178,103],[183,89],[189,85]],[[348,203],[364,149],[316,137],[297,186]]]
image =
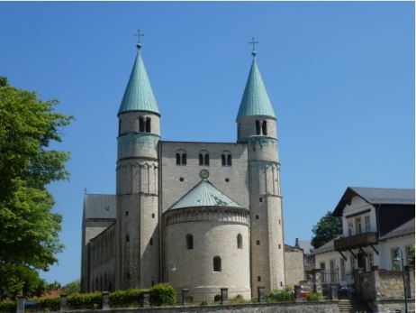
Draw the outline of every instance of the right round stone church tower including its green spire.
[[[253,62],[237,115],[238,142],[249,147],[251,290],[285,285],[284,235],[276,115]]]

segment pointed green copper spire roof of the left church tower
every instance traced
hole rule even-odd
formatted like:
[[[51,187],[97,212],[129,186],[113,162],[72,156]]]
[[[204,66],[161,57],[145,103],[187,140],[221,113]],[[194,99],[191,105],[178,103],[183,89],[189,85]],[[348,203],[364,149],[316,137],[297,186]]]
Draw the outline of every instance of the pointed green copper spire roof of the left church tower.
[[[127,84],[119,114],[126,111],[150,111],[159,114],[158,103],[150,86],[150,81],[140,51],[137,52],[133,69]]]

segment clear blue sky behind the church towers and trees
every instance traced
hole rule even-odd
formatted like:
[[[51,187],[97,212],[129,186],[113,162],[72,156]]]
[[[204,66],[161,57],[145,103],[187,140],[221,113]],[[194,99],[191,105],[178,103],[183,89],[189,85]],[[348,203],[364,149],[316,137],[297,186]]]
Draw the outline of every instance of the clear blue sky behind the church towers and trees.
[[[117,110],[142,55],[164,140],[234,142],[250,41],[275,107],[285,242],[348,186],[414,188],[412,2],[0,3],[0,75],[58,98],[69,182],[50,185],[66,249],[48,281],[80,272],[84,189],[113,193]]]

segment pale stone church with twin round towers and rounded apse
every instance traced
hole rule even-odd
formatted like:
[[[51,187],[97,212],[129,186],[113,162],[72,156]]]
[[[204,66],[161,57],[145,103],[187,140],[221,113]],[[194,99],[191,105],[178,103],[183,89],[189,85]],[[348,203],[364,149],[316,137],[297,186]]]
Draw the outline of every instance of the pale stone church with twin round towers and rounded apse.
[[[258,287],[284,288],[276,114],[257,52],[236,142],[195,143],[162,140],[140,42],[137,48],[117,114],[116,194],[85,196],[82,290],[163,281],[200,302],[213,301],[221,288],[244,299],[256,297]]]

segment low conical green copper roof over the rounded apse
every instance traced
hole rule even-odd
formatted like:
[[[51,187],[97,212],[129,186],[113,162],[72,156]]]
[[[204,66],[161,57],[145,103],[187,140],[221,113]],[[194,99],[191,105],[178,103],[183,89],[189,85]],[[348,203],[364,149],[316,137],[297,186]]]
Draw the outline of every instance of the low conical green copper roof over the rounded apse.
[[[240,207],[240,205],[216,189],[208,180],[201,180],[169,210],[185,207]]]

